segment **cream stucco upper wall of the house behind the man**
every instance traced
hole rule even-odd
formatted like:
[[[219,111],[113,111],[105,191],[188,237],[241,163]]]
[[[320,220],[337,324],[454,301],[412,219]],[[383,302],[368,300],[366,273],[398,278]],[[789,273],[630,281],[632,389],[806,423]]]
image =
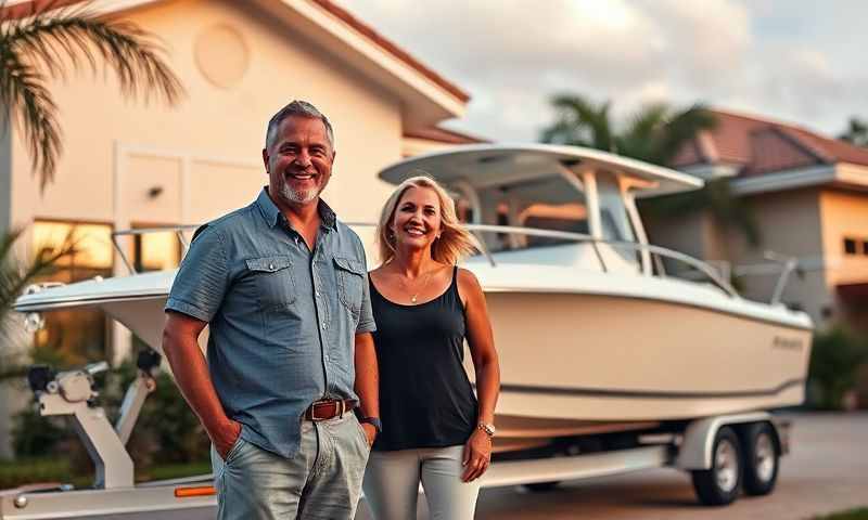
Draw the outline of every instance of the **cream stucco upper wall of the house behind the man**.
[[[238,5],[176,1],[127,14],[169,50],[188,93],[175,108],[125,101],[111,74],[105,80],[102,74],[81,74],[52,84],[62,110],[64,155],[55,182],[40,194],[15,139],[12,220],[123,226],[195,223],[229,211],[252,200],[267,182],[260,167],[265,125],[293,99],[311,101],[335,127],[337,160],[324,198],[346,220],[373,220],[388,191],[375,172],[400,157],[397,101],[268,15]],[[218,26],[224,34],[234,32],[246,49],[246,72],[229,88],[213,84],[196,62],[203,60],[195,51],[197,39]],[[219,57],[210,56],[218,75]],[[115,207],[118,179],[122,193]],[[182,185],[190,192],[182,193]],[[163,187],[162,194],[149,198],[148,190],[155,186]]]

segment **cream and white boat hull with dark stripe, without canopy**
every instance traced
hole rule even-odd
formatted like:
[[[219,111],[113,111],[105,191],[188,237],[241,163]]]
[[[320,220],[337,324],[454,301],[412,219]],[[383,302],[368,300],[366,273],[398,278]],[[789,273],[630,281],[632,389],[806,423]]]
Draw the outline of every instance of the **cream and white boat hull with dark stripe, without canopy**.
[[[804,399],[812,324],[803,313],[637,273],[468,266],[486,292],[500,359],[501,439],[649,429]],[[16,308],[97,306],[158,351],[173,278],[74,284]]]

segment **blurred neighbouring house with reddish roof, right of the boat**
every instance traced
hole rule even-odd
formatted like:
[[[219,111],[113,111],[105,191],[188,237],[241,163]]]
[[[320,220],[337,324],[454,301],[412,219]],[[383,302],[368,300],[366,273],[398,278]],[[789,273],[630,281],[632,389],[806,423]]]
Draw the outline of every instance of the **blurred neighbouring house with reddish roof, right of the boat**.
[[[868,150],[804,128],[713,110],[717,127],[674,161],[703,179],[727,178],[762,234],[756,248],[707,211],[649,222],[654,243],[725,262],[748,298],[768,301],[780,265],[766,251],[795,257],[782,301],[824,327],[868,323]]]

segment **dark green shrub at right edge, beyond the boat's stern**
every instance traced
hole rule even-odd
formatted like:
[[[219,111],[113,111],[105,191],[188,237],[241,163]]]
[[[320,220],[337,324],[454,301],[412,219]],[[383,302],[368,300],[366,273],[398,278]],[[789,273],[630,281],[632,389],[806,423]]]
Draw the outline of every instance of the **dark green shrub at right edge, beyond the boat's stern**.
[[[856,386],[859,365],[868,362],[868,340],[843,327],[814,337],[808,379],[818,390],[815,406],[839,410],[844,393]]]

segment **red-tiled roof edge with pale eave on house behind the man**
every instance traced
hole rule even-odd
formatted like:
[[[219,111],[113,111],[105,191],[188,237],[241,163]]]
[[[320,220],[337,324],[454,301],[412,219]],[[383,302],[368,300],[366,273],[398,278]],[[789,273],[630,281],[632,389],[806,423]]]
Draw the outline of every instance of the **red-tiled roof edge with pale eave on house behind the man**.
[[[21,18],[40,10],[82,2],[89,2],[88,8],[92,8],[94,12],[111,13],[157,1],[161,0],[23,0],[20,2],[13,0],[11,4],[0,9],[0,20]],[[362,61],[357,62],[363,62],[363,65],[360,65],[361,69],[380,77],[388,76],[386,83],[398,91],[406,109],[418,113],[406,121],[408,128],[427,127],[438,120],[459,116],[470,100],[470,95],[458,86],[422,64],[332,0],[273,0],[273,2],[259,0],[251,3],[269,5],[273,3],[276,6],[289,8],[294,15],[286,15],[284,20],[296,23],[301,14],[301,17],[308,22],[309,27],[305,27],[308,34],[329,32],[332,39],[341,40],[340,43],[333,42],[327,48],[341,54],[352,50],[346,54],[347,58],[362,57]],[[317,10],[320,12],[317,13]],[[331,25],[333,24],[331,21],[337,21],[335,25],[343,25],[344,31],[333,30],[332,27],[335,25]],[[347,34],[353,36],[346,36]],[[396,63],[400,65],[395,65]],[[412,77],[413,74],[416,77]],[[426,81],[429,83],[424,84]],[[436,106],[420,106],[431,103]]]

